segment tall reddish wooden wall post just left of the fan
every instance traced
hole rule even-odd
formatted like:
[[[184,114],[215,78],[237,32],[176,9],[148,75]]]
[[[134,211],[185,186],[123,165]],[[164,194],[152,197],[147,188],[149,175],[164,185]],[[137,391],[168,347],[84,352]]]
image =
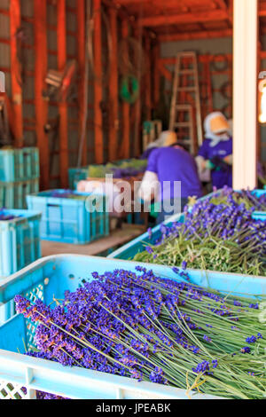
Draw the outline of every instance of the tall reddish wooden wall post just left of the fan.
[[[50,187],[50,153],[48,136],[44,132],[48,102],[43,99],[44,80],[47,75],[46,2],[34,0],[35,29],[35,132],[40,152],[41,189]]]

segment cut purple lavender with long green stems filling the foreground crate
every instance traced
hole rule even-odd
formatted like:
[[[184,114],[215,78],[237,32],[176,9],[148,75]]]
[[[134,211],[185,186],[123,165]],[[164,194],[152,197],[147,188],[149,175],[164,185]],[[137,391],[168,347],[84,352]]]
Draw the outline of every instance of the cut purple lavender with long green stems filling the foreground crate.
[[[39,358],[230,398],[265,397],[266,331],[253,300],[162,279],[142,267],[116,270],[56,308],[18,295],[17,311],[38,322]],[[185,280],[184,280],[185,279]],[[252,334],[250,334],[252,329]]]

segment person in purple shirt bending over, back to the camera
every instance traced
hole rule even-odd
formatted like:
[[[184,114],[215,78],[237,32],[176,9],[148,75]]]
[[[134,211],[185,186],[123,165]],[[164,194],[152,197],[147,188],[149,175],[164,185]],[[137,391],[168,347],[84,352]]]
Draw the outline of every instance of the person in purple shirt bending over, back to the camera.
[[[158,223],[167,216],[181,213],[189,197],[202,196],[196,161],[183,145],[177,143],[176,135],[169,135],[164,147],[153,150],[148,159],[140,190],[144,201],[151,196],[149,186],[154,181],[158,182],[159,191],[153,197],[162,202]]]

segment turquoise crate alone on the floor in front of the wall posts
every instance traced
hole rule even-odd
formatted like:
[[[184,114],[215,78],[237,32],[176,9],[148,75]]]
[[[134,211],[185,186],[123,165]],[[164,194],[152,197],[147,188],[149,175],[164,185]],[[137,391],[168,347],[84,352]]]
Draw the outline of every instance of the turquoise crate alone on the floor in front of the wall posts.
[[[53,193],[64,194],[66,190],[52,190],[27,196],[28,209],[43,213],[41,239],[86,244],[109,234],[109,213],[106,212],[105,196],[73,192],[74,197],[80,197],[75,199],[53,197]],[[91,205],[96,201],[94,199],[103,201],[103,210],[91,209]]]

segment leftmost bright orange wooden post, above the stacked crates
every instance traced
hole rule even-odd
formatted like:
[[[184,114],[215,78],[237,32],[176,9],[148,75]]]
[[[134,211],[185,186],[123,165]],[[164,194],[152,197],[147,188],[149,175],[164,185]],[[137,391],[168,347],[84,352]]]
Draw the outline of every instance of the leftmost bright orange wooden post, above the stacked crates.
[[[23,115],[22,115],[22,87],[21,64],[18,59],[18,29],[21,25],[20,0],[10,0],[10,48],[11,48],[11,83],[13,107],[13,133],[15,146],[23,146]]]

